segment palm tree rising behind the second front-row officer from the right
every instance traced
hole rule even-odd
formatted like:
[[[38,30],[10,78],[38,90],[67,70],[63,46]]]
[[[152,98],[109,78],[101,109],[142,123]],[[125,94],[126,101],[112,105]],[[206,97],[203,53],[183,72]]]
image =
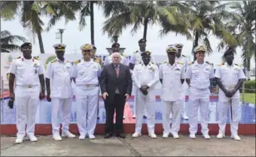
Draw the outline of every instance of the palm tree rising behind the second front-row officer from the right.
[[[227,11],[229,3],[220,4],[218,1],[197,1],[187,2],[190,6],[190,12],[187,18],[190,20],[190,30],[194,36],[194,47],[197,47],[200,41],[206,46],[208,53],[212,53],[212,47],[208,35],[211,32],[218,38],[223,39],[230,45],[236,45],[236,38],[225,29],[223,20],[230,19]],[[194,60],[196,56],[194,55]]]

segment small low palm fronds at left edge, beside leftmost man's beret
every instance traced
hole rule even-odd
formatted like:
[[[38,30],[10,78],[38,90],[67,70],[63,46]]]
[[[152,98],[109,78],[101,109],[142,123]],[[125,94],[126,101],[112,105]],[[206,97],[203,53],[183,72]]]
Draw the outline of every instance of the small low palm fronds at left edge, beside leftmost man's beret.
[[[26,38],[19,35],[11,35],[11,32],[0,32],[1,37],[1,53],[11,53],[12,51],[20,50],[20,46],[15,44],[18,41],[26,41]]]

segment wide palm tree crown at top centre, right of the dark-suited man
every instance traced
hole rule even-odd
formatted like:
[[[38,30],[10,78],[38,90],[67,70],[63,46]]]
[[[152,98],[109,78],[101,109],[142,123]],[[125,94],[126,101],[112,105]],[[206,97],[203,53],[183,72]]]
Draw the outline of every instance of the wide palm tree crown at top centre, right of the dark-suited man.
[[[171,25],[178,23],[175,6],[157,5],[156,2],[119,2],[118,5],[120,8],[117,11],[105,10],[105,17],[111,17],[105,21],[103,32],[108,32],[110,37],[120,35],[127,26],[133,26],[132,35],[144,26],[142,38],[147,38],[148,25],[162,21]]]

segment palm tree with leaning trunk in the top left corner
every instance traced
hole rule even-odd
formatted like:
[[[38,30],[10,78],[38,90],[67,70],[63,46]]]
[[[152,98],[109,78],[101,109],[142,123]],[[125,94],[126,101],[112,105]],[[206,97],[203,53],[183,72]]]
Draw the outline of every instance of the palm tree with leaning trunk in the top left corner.
[[[72,8],[74,5],[71,5],[72,3],[74,2],[2,2],[1,14],[4,15],[5,20],[11,20],[14,19],[14,15],[20,15],[21,25],[32,32],[33,38],[35,38],[35,35],[38,37],[41,53],[44,53],[44,44],[41,36],[44,31],[44,23],[41,20],[41,16],[50,17],[47,30],[60,17],[65,17],[66,21],[75,20],[75,13]],[[20,11],[20,14],[18,11]]]

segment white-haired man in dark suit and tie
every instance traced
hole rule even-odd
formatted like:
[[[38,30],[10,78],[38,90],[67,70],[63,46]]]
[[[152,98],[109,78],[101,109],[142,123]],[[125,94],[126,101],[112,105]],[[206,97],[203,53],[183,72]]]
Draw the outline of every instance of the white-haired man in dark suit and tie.
[[[112,63],[103,67],[100,77],[100,87],[107,117],[105,138],[111,137],[114,133],[114,109],[116,110],[116,135],[121,138],[126,137],[123,134],[123,110],[126,100],[131,95],[133,80],[129,67],[121,64],[120,58],[120,53],[113,53]]]

